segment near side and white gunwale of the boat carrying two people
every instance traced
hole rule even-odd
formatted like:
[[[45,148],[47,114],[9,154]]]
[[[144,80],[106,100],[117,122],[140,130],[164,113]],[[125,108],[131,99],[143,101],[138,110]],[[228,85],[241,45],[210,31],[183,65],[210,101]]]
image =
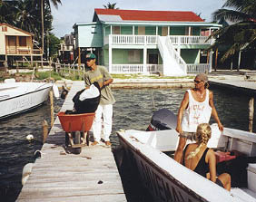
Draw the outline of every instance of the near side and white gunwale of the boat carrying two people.
[[[129,165],[139,173],[143,186],[151,192],[153,201],[241,201],[211,180],[203,178],[160,150],[134,138],[135,133],[135,130],[117,132],[125,150],[126,157],[123,159],[128,159]],[[172,133],[174,131],[170,130],[169,134]]]

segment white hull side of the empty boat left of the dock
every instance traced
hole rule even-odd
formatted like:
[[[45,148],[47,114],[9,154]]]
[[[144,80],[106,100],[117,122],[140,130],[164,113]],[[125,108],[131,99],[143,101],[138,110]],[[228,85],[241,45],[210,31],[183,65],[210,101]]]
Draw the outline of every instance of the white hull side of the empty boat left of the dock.
[[[23,87],[20,87],[20,89]],[[42,87],[36,87],[34,90],[19,93],[6,99],[0,100],[0,120],[15,114],[30,111],[44,103],[47,100],[51,84],[45,84]]]

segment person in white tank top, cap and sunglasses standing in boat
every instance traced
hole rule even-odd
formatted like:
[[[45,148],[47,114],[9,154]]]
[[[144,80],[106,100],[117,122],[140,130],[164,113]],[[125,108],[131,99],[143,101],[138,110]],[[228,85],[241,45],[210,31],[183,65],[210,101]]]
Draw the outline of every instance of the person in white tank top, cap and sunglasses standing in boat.
[[[196,128],[200,123],[208,123],[212,115],[218,123],[219,129],[223,130],[213,104],[213,93],[207,89],[209,86],[207,75],[205,73],[197,74],[194,83],[195,88],[185,92],[178,112],[176,131],[179,132],[180,139],[174,159],[179,163],[187,139],[193,140]]]

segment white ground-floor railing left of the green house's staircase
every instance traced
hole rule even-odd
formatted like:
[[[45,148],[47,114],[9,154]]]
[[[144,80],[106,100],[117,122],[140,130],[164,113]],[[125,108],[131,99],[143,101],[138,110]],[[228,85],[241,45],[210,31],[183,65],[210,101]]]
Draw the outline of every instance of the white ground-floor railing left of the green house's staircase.
[[[156,73],[162,72],[161,64],[112,64],[111,73]]]

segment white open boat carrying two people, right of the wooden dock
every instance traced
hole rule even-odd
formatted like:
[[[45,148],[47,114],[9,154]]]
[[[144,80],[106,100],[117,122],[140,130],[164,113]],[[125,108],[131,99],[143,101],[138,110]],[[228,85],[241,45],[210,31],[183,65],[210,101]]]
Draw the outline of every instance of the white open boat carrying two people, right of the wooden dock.
[[[249,164],[247,168],[248,188],[231,188],[229,192],[164,153],[176,149],[178,134],[175,130],[123,130],[117,135],[131,166],[139,172],[143,186],[152,193],[153,201],[256,201],[256,164]],[[256,134],[229,128],[221,134],[213,124],[208,147],[235,149],[255,157]]]

